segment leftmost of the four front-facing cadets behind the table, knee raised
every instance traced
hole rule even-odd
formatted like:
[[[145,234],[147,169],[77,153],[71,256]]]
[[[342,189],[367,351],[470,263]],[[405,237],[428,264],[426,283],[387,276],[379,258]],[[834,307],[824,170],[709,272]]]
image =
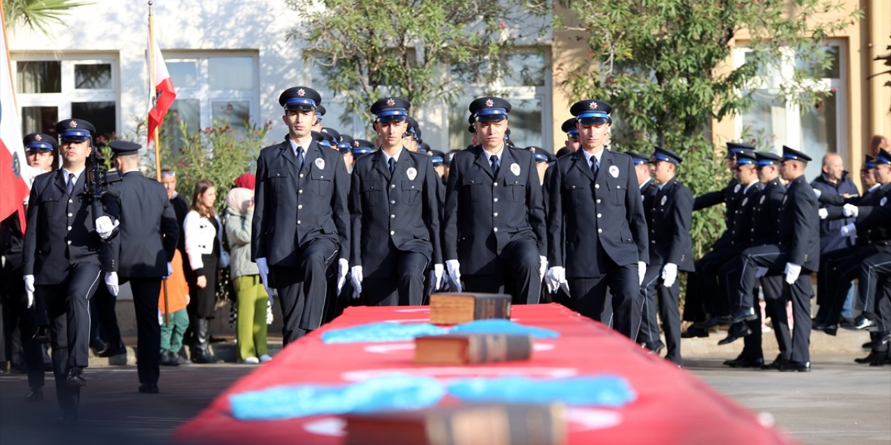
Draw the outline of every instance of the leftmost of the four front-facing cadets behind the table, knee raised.
[[[321,101],[307,86],[285,90],[288,137],[257,158],[250,256],[263,284],[278,290],[286,345],[322,324],[328,267],[337,259],[338,293],[349,267],[349,174],[338,151],[313,141]]]

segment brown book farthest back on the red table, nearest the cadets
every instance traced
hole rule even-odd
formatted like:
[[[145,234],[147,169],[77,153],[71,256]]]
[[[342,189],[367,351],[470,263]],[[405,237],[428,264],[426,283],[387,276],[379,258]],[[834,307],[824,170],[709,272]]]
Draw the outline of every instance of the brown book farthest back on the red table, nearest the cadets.
[[[457,325],[487,319],[511,320],[511,295],[469,292],[430,295],[430,323]]]

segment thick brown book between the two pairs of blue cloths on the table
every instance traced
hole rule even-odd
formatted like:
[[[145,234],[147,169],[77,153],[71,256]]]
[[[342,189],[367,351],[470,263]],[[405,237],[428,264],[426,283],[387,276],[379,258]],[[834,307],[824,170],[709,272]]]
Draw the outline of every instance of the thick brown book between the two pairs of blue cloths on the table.
[[[532,336],[513,334],[449,334],[414,338],[414,362],[474,364],[529,360]]]

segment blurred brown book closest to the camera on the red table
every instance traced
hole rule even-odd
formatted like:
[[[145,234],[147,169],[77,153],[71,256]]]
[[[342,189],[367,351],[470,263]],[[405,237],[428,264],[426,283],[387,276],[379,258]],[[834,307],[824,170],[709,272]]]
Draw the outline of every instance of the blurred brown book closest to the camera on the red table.
[[[557,445],[567,436],[560,403],[454,405],[345,419],[347,445]]]

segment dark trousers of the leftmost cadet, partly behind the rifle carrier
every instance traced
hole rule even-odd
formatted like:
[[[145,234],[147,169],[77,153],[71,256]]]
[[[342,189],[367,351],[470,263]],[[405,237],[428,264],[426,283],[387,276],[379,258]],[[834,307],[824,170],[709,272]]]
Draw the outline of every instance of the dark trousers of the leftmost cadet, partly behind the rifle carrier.
[[[12,337],[15,329],[19,329],[21,342],[21,356],[28,370],[28,385],[31,388],[44,385],[44,352],[43,345],[38,344],[32,338],[37,331],[37,309],[28,307],[28,299],[25,296],[25,281],[21,279],[21,269],[7,267],[4,270],[4,279],[7,280],[3,295],[3,336],[5,356],[12,360]],[[16,279],[18,278],[18,279]]]

